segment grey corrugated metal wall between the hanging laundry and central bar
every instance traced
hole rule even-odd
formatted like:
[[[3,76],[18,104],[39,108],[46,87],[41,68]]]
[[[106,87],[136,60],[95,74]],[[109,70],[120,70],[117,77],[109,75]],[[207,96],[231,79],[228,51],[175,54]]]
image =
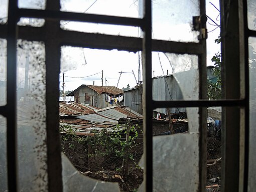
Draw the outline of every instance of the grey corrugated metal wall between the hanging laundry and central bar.
[[[137,113],[143,114],[142,87],[124,92],[124,106],[131,108]]]

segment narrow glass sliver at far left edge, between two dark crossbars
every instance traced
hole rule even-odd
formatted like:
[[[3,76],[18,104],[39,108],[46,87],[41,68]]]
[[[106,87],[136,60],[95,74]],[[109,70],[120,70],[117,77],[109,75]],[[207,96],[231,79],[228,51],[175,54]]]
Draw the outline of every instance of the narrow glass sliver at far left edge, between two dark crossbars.
[[[7,41],[0,39],[0,106],[6,104]]]

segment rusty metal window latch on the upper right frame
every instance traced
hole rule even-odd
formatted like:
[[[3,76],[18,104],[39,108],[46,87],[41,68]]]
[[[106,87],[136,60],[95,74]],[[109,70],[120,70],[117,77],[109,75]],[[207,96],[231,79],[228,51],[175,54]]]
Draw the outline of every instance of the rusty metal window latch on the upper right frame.
[[[199,31],[199,36],[197,36],[199,41],[207,39],[206,21],[206,15],[193,17],[193,30]]]

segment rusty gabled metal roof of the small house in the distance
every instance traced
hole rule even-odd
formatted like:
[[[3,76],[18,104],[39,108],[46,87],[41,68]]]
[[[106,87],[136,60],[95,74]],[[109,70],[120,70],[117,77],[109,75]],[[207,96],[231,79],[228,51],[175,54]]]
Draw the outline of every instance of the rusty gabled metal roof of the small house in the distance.
[[[109,95],[118,95],[123,94],[122,90],[115,86],[98,86],[98,85],[80,85],[77,89],[67,94],[67,96],[74,95],[74,92],[82,87],[89,87],[90,89],[96,91],[99,95],[102,93],[106,93]]]

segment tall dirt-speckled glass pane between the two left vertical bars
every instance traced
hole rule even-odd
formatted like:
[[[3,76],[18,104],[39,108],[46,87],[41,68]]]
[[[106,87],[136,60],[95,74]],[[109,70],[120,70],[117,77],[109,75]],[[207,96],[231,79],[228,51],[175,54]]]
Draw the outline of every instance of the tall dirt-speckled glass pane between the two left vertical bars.
[[[46,191],[45,46],[17,42],[17,138],[19,191]]]

